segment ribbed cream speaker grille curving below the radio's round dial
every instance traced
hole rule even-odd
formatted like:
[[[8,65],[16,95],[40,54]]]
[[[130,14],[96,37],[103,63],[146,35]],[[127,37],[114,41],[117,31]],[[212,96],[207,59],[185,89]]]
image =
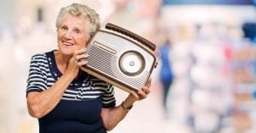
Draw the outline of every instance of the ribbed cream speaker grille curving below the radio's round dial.
[[[146,84],[150,75],[148,71],[144,71],[141,75],[137,75],[136,77],[124,75],[119,69],[119,58],[94,45],[89,45],[88,49],[90,49],[88,50],[90,56],[87,65],[91,68],[97,69],[98,71],[105,73],[105,75],[111,76],[114,80],[118,80],[122,84],[134,88],[140,88]]]

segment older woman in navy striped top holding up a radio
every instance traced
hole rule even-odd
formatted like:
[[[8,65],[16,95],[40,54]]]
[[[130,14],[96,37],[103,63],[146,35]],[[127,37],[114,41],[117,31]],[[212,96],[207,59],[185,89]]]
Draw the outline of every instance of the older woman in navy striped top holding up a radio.
[[[106,133],[148,96],[150,81],[116,106],[113,86],[79,69],[87,64],[86,45],[99,23],[85,5],[61,8],[55,23],[58,50],[32,56],[26,99],[40,133]]]

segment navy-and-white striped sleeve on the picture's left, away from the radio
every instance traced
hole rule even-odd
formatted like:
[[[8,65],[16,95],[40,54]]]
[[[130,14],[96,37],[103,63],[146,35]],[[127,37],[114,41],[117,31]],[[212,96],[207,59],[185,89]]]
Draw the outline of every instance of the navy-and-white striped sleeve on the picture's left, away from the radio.
[[[38,55],[31,58],[29,74],[26,80],[26,95],[31,91],[44,91],[47,87],[46,75],[42,71],[44,62]]]

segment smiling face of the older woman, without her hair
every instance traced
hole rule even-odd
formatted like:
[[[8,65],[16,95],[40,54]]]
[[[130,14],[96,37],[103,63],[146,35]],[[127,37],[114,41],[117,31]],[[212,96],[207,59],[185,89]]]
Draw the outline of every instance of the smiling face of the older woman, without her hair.
[[[62,54],[73,55],[74,51],[85,47],[87,42],[86,23],[88,21],[81,17],[66,14],[59,26],[58,47]]]

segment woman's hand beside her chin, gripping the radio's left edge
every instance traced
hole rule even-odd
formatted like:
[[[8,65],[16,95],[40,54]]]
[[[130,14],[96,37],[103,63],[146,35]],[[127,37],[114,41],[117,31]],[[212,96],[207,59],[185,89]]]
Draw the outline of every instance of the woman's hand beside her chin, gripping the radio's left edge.
[[[66,70],[68,75],[74,75],[76,77],[77,75],[79,75],[80,67],[88,63],[88,54],[85,53],[86,50],[87,49],[83,47],[73,53],[73,57],[69,59]]]

